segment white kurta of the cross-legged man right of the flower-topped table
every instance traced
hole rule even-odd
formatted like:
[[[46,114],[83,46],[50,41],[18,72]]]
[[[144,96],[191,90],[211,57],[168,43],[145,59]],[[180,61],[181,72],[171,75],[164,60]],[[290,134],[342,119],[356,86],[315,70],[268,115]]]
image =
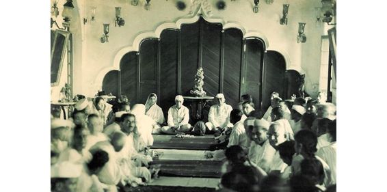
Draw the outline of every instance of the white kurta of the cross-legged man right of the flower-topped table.
[[[224,105],[220,107],[218,105],[211,106],[209,111],[209,123],[211,123],[213,127],[208,128],[212,130],[212,128],[216,127],[232,127],[232,123],[230,123],[231,111],[231,105],[228,105],[226,103],[224,103]]]

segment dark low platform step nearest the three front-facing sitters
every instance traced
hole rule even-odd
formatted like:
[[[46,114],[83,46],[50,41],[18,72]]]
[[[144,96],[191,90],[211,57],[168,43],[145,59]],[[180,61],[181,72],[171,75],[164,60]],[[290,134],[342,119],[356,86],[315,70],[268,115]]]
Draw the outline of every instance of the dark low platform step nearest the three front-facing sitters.
[[[209,150],[215,143],[213,135],[177,138],[174,135],[153,135],[152,149]]]

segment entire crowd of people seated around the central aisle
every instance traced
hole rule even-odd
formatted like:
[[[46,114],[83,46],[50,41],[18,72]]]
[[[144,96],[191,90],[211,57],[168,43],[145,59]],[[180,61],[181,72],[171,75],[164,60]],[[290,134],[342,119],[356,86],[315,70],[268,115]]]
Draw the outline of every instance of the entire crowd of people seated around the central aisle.
[[[208,122],[191,125],[181,95],[166,120],[153,93],[132,108],[126,96],[79,96],[69,120],[51,111],[51,191],[146,185],[159,172],[152,134],[177,133],[214,135],[206,156],[224,161],[218,191],[336,191],[336,106],[321,97],[289,106],[276,92],[270,99],[264,111],[246,94],[232,109],[219,93]]]

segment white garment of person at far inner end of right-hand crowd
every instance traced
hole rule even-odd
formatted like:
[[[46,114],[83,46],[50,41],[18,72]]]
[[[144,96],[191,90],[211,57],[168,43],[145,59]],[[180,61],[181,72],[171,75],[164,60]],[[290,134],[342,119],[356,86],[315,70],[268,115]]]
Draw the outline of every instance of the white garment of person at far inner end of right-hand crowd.
[[[232,127],[227,147],[230,146],[241,146],[242,148],[248,148],[248,135],[245,133],[243,121],[237,122]]]

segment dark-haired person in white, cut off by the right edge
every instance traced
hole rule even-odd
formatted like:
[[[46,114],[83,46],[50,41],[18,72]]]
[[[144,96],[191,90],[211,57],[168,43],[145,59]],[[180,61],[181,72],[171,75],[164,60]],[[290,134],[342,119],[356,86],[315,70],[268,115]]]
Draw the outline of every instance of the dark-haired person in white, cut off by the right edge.
[[[332,183],[336,183],[336,120],[328,124],[328,133],[332,142],[329,146],[317,150],[316,155],[328,164],[332,174]]]

